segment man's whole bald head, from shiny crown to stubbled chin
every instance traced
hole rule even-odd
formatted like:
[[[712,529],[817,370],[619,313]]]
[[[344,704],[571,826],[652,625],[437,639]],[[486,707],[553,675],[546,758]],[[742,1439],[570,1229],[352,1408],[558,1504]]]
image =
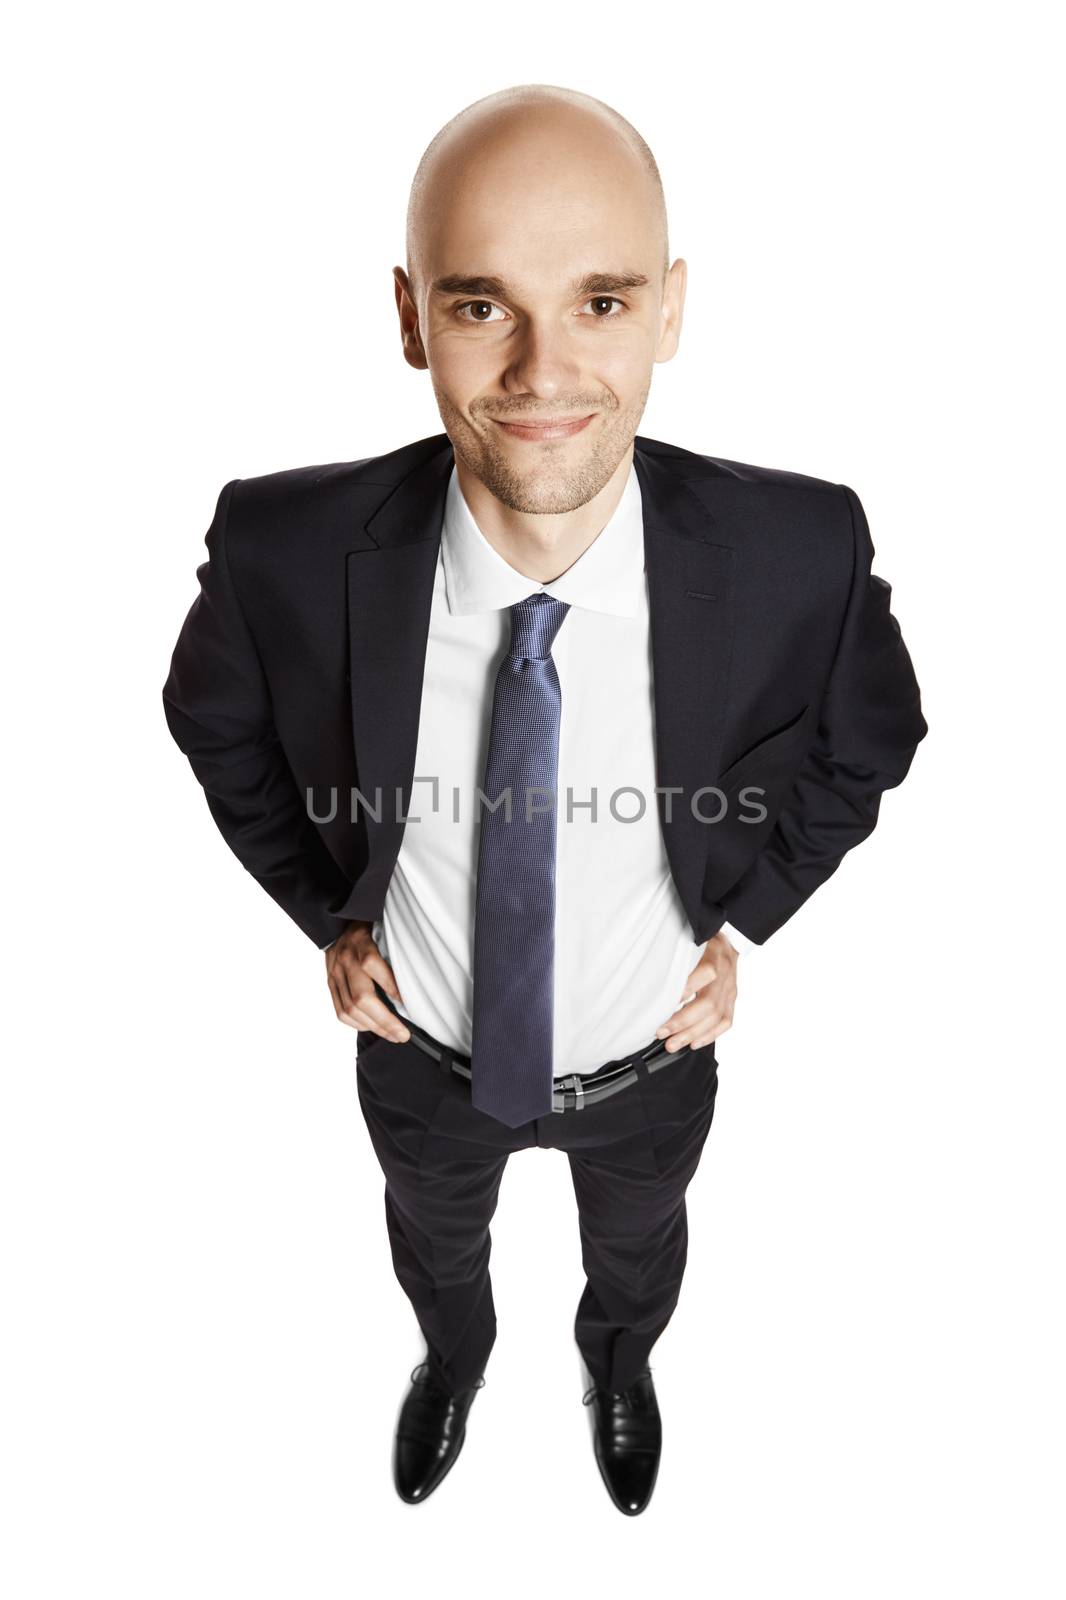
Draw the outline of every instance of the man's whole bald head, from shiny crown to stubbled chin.
[[[655,158],[602,101],[525,83],[440,130],[392,277],[403,358],[429,370],[482,530],[506,509],[557,539],[552,518],[610,512],[685,272]]]

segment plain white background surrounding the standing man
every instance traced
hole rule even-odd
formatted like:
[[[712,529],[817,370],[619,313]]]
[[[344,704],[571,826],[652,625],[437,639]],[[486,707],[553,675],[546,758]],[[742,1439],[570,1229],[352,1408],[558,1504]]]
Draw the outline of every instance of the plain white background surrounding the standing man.
[[[6,1592],[1061,1595],[1050,10],[54,5],[6,56]],[[930,723],[743,950],[639,1518],[549,1152],[464,1454],[395,1496],[423,1344],[355,1035],[160,701],[224,482],[440,432],[407,187],[522,82],[658,157],[688,299],[640,432],[856,490]]]

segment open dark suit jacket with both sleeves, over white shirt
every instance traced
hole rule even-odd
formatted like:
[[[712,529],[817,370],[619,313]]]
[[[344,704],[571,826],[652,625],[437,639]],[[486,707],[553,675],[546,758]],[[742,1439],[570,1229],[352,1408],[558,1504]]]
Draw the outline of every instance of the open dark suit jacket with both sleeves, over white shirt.
[[[906,778],[919,685],[853,490],[642,435],[634,461],[671,872],[698,944],[763,944]],[[319,946],[384,907],[451,464],[439,434],[226,483],[163,686],[222,837]]]

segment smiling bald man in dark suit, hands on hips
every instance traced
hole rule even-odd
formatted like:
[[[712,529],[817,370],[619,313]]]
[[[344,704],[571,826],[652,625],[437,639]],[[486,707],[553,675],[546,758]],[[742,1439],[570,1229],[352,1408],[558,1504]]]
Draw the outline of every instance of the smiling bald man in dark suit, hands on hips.
[[[514,1150],[565,1150],[592,1442],[648,1504],[738,950],[869,835],[927,723],[840,483],[637,435],[679,344],[651,152],[576,91],[432,141],[395,301],[445,434],[235,478],[163,690],[245,867],[357,1029],[395,1274],[426,1338],[394,1442],[419,1502],[496,1336]]]

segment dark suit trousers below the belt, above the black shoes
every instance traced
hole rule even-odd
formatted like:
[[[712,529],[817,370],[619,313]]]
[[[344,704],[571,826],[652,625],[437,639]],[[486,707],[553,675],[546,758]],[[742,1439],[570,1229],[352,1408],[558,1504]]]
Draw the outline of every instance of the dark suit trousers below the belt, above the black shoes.
[[[685,1189],[711,1130],[714,1045],[579,1110],[519,1128],[471,1106],[471,1082],[410,1040],[357,1035],[359,1102],[386,1178],[395,1275],[450,1394],[474,1384],[496,1339],[488,1256],[499,1181],[514,1150],[565,1150],[586,1274],[575,1338],[595,1382],[626,1389],[680,1294]]]

